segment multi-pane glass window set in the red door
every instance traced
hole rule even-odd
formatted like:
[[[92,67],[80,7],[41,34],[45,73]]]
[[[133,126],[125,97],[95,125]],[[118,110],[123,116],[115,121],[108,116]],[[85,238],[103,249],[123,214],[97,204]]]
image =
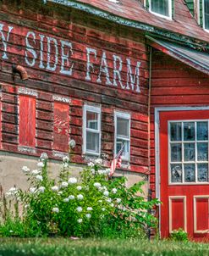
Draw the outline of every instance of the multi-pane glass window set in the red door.
[[[208,182],[208,120],[169,122],[170,183]]]

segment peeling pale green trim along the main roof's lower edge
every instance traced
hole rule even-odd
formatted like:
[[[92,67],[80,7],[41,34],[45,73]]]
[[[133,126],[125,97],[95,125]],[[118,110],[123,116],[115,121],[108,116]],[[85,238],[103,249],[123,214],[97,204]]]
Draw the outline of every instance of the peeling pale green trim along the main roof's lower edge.
[[[100,8],[93,7],[91,4],[80,3],[74,0],[47,0],[47,2],[62,4],[69,8],[75,8],[84,11],[85,13],[93,14],[103,19],[111,20],[119,25],[129,26],[135,29],[146,31],[151,34],[162,36],[164,38],[170,38],[174,41],[184,42],[186,45],[194,49],[201,49],[202,47],[204,47],[209,50],[208,42],[200,42],[199,40],[196,42],[195,38],[193,37],[184,36],[173,31],[159,29],[153,25],[148,25],[132,19],[126,19],[120,16],[116,16],[115,14],[108,13],[107,11],[103,11]]]

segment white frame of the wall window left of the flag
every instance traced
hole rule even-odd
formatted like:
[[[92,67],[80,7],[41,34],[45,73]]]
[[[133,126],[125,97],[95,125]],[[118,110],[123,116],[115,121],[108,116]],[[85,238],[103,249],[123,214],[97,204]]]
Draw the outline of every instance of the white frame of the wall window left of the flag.
[[[98,130],[97,131],[95,129],[86,127],[87,111],[98,114]],[[87,148],[86,148],[86,132],[87,131],[91,131],[91,132],[99,134],[99,152],[98,153],[87,150]],[[84,105],[84,109],[83,109],[83,153],[91,154],[91,155],[95,155],[95,156],[100,156],[100,154],[101,154],[101,108],[91,106],[91,105],[86,105],[86,104]]]

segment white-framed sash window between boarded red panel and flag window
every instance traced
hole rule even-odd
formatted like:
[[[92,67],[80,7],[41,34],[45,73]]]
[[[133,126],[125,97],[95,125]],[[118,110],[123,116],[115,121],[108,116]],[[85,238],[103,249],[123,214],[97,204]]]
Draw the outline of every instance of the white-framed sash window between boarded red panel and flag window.
[[[101,148],[101,109],[85,105],[84,106],[84,153],[100,155]]]

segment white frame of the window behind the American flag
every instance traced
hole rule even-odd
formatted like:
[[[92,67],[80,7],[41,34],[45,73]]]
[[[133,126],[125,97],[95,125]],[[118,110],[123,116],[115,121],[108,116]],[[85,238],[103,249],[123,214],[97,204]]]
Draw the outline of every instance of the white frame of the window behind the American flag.
[[[125,120],[129,120],[129,139],[126,139],[122,136],[117,136],[117,119],[119,118],[123,118]],[[114,112],[114,127],[115,127],[115,131],[114,131],[114,155],[116,156],[117,154],[117,138],[118,139],[122,139],[124,141],[128,141],[129,142],[129,156],[128,158],[124,157],[124,155],[122,155],[122,159],[124,161],[129,162],[130,161],[130,114],[129,113],[124,113],[124,112],[119,112],[119,111],[115,111]]]

